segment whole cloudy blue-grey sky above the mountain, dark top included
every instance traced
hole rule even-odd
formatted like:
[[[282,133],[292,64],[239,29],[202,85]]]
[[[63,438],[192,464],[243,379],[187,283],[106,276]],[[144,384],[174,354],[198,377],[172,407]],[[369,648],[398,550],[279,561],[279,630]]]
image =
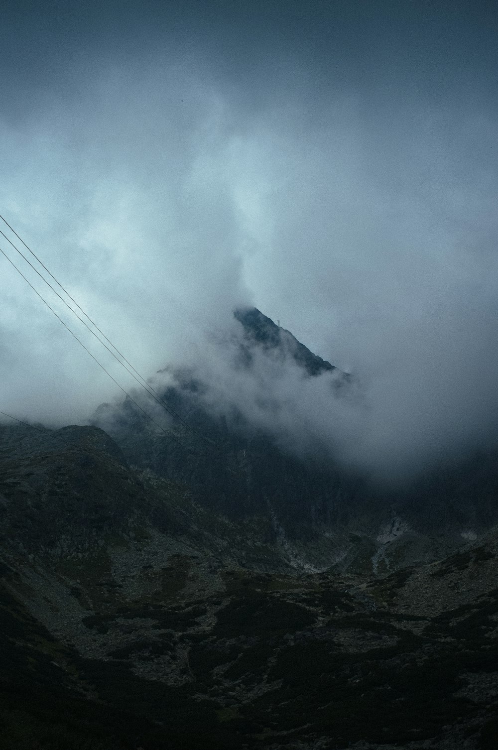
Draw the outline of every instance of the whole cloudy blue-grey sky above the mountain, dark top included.
[[[204,368],[250,414],[268,374],[239,383],[213,341],[255,305],[360,384],[345,406],[281,374],[290,443],[383,466],[495,444],[494,6],[7,0],[0,214],[145,377]],[[0,294],[1,411],[84,423],[121,394],[3,256]]]

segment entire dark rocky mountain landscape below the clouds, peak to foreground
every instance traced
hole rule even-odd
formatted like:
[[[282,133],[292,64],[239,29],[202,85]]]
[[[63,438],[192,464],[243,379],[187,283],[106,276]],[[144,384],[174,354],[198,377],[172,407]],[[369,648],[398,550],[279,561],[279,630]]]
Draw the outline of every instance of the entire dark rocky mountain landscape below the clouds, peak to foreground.
[[[0,750],[495,748],[493,457],[389,494],[163,398],[193,430],[0,426]]]

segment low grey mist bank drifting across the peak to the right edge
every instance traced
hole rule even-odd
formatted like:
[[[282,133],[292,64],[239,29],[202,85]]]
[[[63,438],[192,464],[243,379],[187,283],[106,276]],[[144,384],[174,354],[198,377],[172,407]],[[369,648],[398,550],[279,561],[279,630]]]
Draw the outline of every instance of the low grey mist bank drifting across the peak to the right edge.
[[[405,325],[392,335],[389,351],[346,384],[337,370],[310,377],[284,345],[253,344],[248,366],[241,358],[241,345],[248,345],[242,327],[223,329],[196,349],[192,375],[205,386],[196,398],[217,416],[242,413],[286,452],[339,461],[383,480],[406,479],[498,442],[498,400],[492,378],[484,377],[498,365],[496,349],[483,349],[493,332],[476,337],[482,318],[468,320],[461,312],[450,329],[443,317],[439,329]],[[460,337],[469,341],[471,331],[475,339],[462,358]],[[429,362],[438,349],[437,362]],[[171,383],[169,371],[155,387]],[[155,416],[161,418],[160,410]]]

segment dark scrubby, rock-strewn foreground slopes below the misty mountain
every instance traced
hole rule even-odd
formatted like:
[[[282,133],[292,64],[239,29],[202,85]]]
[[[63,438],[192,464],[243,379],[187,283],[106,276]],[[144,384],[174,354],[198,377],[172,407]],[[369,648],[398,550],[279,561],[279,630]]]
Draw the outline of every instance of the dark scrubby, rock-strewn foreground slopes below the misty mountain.
[[[343,529],[320,571],[98,428],[0,433],[2,750],[496,748],[493,529],[413,565]]]

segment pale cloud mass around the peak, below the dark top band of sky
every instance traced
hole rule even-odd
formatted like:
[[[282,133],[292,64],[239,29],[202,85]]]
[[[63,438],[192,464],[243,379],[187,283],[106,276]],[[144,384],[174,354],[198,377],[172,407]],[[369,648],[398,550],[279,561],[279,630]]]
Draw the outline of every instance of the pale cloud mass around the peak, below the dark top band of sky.
[[[143,374],[196,363],[205,331],[233,332],[251,302],[353,370],[368,413],[331,405],[325,378],[290,369],[274,393],[268,373],[225,383],[217,363],[254,419],[262,389],[281,395],[296,446],[387,466],[494,437],[496,123],[415,98],[367,113],[357,92],[290,83],[251,110],[192,60],[82,68],[74,98],[2,124],[5,215]],[[110,401],[3,262],[0,292],[5,411],[83,421]]]

